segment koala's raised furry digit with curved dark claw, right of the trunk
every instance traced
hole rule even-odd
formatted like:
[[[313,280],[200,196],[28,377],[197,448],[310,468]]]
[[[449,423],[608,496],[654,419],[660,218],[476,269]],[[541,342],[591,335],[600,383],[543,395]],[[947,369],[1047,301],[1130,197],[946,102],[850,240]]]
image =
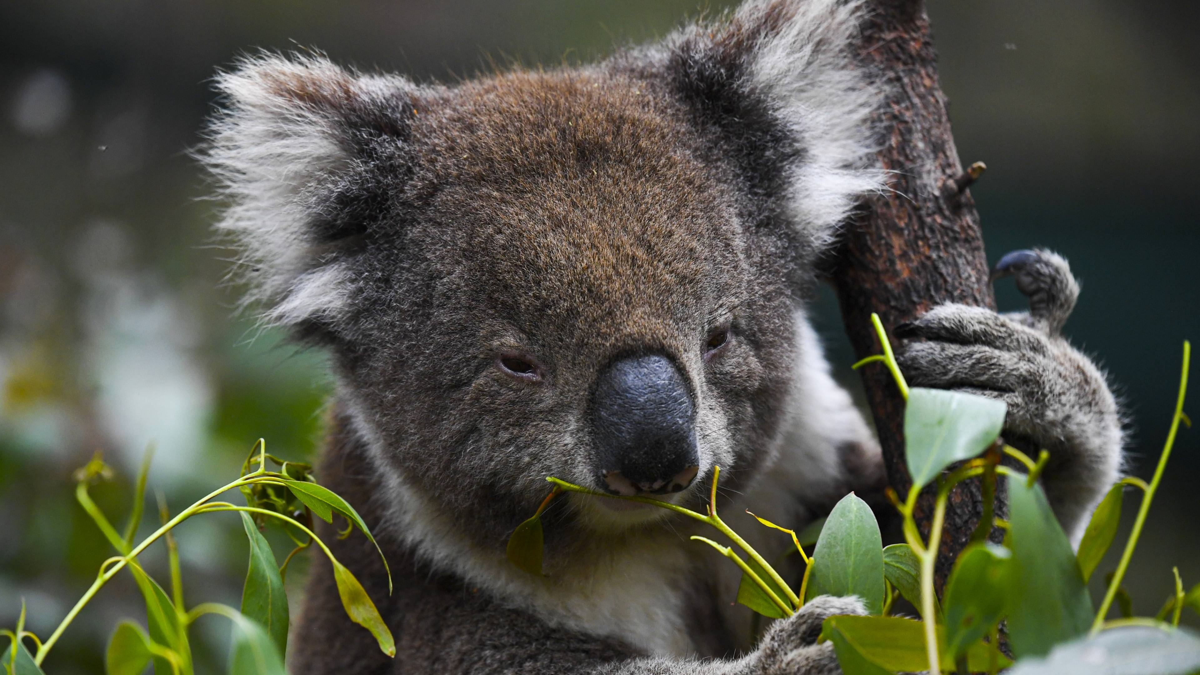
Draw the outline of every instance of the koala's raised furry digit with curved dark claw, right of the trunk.
[[[1044,249],[1006,253],[991,269],[994,281],[1004,276],[1015,276],[1016,289],[1030,299],[1027,323],[1051,335],[1062,330],[1079,298],[1079,283],[1062,256]]]

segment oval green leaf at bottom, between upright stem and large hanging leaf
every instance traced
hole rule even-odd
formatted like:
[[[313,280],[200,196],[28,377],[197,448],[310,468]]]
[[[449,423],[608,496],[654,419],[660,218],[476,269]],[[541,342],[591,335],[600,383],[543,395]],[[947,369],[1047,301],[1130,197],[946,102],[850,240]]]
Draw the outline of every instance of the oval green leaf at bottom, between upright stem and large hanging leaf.
[[[1009,595],[1013,554],[996,544],[972,544],[946,583],[946,649],[958,659],[1000,623]]]

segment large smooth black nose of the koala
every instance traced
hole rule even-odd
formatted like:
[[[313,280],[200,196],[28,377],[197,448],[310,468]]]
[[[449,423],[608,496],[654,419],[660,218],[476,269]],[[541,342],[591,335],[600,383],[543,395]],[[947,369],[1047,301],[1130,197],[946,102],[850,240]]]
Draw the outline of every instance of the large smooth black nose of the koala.
[[[688,384],[658,354],[614,362],[596,383],[592,428],[604,484],[612,492],[678,492],[700,471]]]

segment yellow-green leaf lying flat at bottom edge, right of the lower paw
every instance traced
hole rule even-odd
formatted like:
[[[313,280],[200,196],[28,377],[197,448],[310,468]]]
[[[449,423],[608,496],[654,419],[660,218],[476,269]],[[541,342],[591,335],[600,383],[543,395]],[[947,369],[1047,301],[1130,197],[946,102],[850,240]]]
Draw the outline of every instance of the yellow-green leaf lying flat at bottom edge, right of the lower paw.
[[[821,627],[821,638],[834,640],[838,661],[842,652],[836,637],[841,635],[856,656],[884,673],[920,673],[929,670],[929,652],[925,650],[925,627],[920,621],[900,616],[830,616]],[[944,631],[937,627],[938,652],[943,663],[953,663],[944,647]],[[967,651],[967,665],[972,671],[989,670],[992,649],[982,641]],[[996,653],[1001,668],[1012,665],[1003,655]],[[842,664],[842,670],[845,664]],[[847,675],[850,674],[846,670]],[[869,673],[875,673],[869,670]]]

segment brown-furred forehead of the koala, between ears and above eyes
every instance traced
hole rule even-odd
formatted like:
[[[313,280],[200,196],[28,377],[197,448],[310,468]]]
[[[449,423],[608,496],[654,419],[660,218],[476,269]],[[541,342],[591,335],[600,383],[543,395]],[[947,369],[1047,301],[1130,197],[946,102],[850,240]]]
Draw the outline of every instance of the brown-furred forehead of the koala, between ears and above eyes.
[[[679,318],[732,292],[732,201],[653,86],[605,71],[524,72],[418,102],[427,234],[454,243],[446,257],[494,306]]]

